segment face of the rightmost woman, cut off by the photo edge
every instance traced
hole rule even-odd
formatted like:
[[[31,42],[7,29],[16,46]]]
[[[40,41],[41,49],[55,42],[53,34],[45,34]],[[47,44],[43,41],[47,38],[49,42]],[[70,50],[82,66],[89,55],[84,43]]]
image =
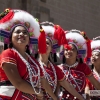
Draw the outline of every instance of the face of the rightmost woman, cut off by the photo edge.
[[[100,52],[98,52],[98,51],[92,52],[91,63],[94,66],[95,65],[100,65]]]

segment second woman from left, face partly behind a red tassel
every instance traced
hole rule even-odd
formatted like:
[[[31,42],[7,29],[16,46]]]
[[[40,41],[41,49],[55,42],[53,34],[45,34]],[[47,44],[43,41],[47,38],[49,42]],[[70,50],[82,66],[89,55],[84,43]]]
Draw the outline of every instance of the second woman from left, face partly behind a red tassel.
[[[83,97],[78,94],[76,92],[76,90],[69,84],[68,81],[65,80],[65,75],[62,72],[62,70],[55,64],[52,63],[52,61],[50,60],[50,54],[52,51],[54,51],[54,45],[59,42],[59,44],[62,44],[62,40],[64,38],[64,31],[62,30],[62,28],[60,26],[55,26],[50,23],[50,22],[43,22],[40,23],[41,27],[43,28],[43,30],[46,33],[46,53],[45,54],[41,54],[39,53],[39,63],[41,65],[41,68],[44,72],[45,78],[48,80],[53,93],[56,92],[56,88],[57,88],[57,82],[64,87],[66,90],[68,90],[72,95],[76,96],[77,98],[79,98],[80,100],[83,100]],[[55,33],[57,32],[57,33]],[[55,41],[56,36],[58,36],[57,34],[62,34],[61,37],[59,37],[59,39],[57,39],[58,41]],[[56,36],[54,36],[56,35]],[[66,41],[65,41],[66,42]],[[50,100],[50,96],[44,91],[45,94],[45,98],[46,100]]]

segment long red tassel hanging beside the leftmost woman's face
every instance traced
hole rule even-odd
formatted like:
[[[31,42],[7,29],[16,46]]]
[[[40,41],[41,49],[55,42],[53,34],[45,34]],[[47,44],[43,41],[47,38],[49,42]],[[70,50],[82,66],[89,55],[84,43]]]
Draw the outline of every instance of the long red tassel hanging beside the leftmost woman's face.
[[[44,54],[46,53],[46,35],[42,27],[40,26],[40,36],[38,38],[38,48],[39,48],[39,53]]]

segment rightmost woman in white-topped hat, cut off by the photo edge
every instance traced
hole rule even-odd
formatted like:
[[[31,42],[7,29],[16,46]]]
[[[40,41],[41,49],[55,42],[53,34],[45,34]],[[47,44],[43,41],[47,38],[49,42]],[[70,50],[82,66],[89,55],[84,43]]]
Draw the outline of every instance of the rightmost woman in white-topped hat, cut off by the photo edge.
[[[91,66],[92,66],[93,76],[98,82],[100,82],[100,36],[94,38],[91,41],[91,49],[92,49]],[[86,82],[87,84],[85,88],[85,93],[90,95],[91,100],[99,100],[100,93],[97,90],[97,88],[88,79],[86,80]],[[90,90],[97,90],[99,94],[96,95],[90,94]],[[90,100],[90,98],[88,97],[88,100]]]

